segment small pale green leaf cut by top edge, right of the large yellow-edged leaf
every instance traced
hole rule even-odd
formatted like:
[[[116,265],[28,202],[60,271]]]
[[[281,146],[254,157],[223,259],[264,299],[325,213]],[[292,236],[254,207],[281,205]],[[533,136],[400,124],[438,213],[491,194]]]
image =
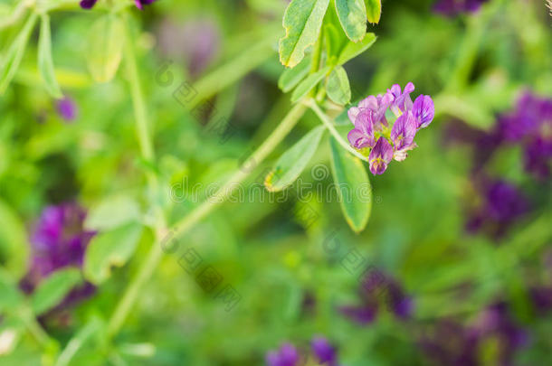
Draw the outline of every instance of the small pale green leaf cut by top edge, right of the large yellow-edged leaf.
[[[362,41],[366,34],[366,5],[364,0],[336,0],[339,23],[353,42]]]

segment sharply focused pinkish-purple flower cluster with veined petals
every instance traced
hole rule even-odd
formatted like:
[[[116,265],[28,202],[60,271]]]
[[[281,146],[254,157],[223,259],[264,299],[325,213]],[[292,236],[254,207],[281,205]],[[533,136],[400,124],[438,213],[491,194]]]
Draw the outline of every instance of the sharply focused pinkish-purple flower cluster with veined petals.
[[[348,117],[354,128],[348,133],[349,144],[368,155],[370,172],[383,174],[395,158],[402,162],[407,152],[417,147],[414,136],[433,121],[435,108],[429,96],[420,95],[414,100],[410,94],[414,84],[409,82],[404,90],[398,84],[387,89],[385,95],[369,96],[357,107],[349,108]],[[396,120],[389,126],[385,113],[390,109]]]

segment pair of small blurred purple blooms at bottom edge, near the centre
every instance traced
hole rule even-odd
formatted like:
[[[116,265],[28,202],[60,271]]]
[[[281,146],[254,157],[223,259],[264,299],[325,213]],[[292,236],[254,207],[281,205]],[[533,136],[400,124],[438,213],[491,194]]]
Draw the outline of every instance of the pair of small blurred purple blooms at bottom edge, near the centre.
[[[338,366],[338,352],[324,337],[314,337],[310,342],[310,351],[320,365]],[[293,344],[283,343],[280,349],[268,352],[268,366],[299,366],[301,355]]]

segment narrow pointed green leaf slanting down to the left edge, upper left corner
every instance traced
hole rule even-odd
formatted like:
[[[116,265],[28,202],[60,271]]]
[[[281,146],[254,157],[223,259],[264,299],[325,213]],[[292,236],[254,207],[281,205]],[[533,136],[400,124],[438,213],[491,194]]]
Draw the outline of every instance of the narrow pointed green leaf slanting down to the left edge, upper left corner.
[[[27,22],[24,23],[23,29],[14,42],[7,50],[7,54],[3,58],[2,67],[0,71],[0,94],[4,94],[5,89],[10,85],[12,79],[14,79],[15,72],[19,69],[19,64],[23,59],[25,49],[27,48],[27,42],[29,41],[29,35],[33,31],[34,23],[36,23],[37,15],[31,14]]]

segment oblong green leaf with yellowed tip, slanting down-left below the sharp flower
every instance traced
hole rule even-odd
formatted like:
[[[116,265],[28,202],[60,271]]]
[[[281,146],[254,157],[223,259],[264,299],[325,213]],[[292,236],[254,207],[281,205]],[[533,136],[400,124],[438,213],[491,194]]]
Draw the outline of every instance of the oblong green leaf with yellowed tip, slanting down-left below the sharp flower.
[[[324,130],[323,126],[313,128],[280,156],[264,181],[267,190],[278,192],[295,182],[316,152]]]

